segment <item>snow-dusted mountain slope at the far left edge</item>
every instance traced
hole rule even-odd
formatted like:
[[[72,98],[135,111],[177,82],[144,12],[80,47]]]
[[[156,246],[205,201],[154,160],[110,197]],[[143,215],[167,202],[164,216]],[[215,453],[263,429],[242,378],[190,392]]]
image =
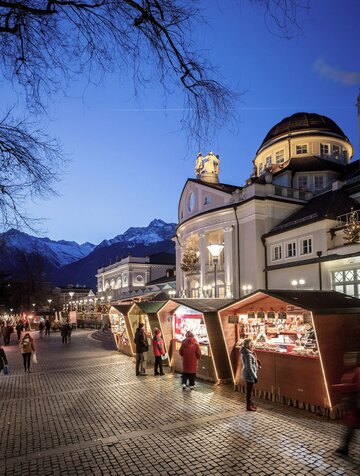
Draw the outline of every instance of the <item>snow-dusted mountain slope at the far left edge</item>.
[[[93,251],[95,245],[83,243],[79,245],[75,241],[53,241],[50,238],[38,238],[27,233],[11,229],[0,234],[0,247],[6,248],[7,254],[37,254],[49,261],[53,266],[60,268],[84,258]]]

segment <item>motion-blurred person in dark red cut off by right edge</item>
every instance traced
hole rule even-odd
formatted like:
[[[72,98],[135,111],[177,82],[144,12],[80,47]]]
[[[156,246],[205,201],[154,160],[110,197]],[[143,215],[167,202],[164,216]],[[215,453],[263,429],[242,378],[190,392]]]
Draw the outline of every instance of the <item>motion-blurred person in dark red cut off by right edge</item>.
[[[349,454],[349,446],[355,437],[355,432],[360,429],[360,352],[348,352],[344,355],[346,372],[341,378],[340,388],[343,389],[345,403],[345,425],[341,446],[335,453],[343,456]],[[337,387],[337,386],[335,386]]]

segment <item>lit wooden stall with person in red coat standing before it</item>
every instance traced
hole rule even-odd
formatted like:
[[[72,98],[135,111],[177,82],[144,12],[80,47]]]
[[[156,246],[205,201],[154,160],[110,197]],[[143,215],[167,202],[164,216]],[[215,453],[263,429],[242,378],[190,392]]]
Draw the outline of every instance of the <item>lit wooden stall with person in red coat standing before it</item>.
[[[233,302],[229,299],[171,299],[159,310],[172,370],[182,372],[179,348],[186,331],[191,330],[202,353],[197,376],[211,382],[231,380],[218,311]]]

